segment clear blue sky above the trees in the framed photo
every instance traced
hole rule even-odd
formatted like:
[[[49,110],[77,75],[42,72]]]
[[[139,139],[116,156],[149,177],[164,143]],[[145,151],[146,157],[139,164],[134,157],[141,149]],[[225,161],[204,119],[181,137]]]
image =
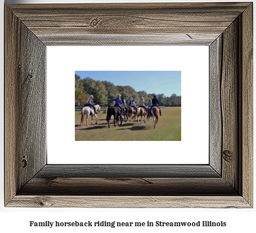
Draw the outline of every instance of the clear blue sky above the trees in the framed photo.
[[[81,79],[91,77],[114,85],[132,86],[136,92],[181,95],[181,71],[75,71],[75,74]]]

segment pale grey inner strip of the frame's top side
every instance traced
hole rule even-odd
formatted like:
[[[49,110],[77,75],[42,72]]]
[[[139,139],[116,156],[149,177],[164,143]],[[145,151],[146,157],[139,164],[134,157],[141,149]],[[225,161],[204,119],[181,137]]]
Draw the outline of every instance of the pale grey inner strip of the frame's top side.
[[[209,46],[218,34],[168,34],[168,35],[41,35],[47,46]]]

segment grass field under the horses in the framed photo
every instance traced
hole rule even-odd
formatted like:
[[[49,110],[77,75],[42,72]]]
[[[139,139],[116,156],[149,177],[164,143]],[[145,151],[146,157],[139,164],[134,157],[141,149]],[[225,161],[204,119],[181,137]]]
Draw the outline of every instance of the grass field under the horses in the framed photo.
[[[91,116],[84,118],[83,126],[80,126],[81,115],[75,112],[75,140],[76,141],[181,141],[181,107],[161,108],[162,115],[159,117],[158,125],[154,129],[154,121],[146,119],[146,123],[138,126],[137,120],[123,121],[114,127],[113,116],[110,120],[110,129],[106,121],[106,113],[97,114],[98,122]]]

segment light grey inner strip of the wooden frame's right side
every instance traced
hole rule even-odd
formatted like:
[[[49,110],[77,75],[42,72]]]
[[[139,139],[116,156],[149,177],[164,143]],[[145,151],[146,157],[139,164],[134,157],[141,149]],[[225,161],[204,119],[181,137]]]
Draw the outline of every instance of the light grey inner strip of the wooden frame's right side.
[[[222,35],[209,47],[209,163],[221,174],[222,171]]]

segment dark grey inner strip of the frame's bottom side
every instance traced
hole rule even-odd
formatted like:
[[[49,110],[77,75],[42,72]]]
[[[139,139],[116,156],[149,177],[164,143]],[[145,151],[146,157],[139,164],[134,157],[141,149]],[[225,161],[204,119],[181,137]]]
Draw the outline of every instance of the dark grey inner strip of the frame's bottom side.
[[[36,177],[221,177],[210,165],[46,165]]]

